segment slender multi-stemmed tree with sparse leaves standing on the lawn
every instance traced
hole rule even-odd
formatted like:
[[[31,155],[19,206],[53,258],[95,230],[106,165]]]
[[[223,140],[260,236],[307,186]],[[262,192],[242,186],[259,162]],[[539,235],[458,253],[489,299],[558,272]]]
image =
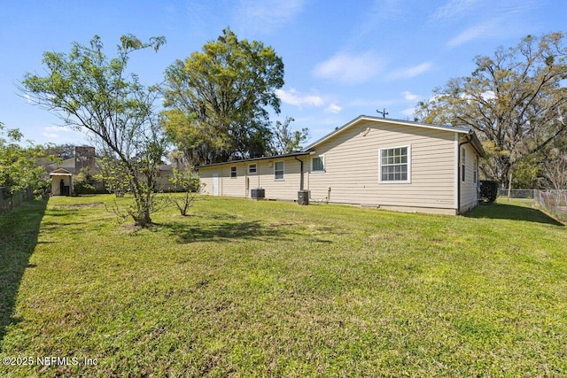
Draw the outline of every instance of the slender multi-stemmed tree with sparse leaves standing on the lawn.
[[[107,58],[95,35],[89,46],[74,42],[69,54],[45,52],[47,74],[27,73],[20,88],[65,125],[85,129],[95,138],[109,164],[124,174],[134,196],[134,204],[122,213],[141,227],[151,225],[156,208],[153,188],[166,140],[153,105],[158,88],[145,87],[136,74],[128,73],[127,64],[132,52],[157,51],[163,43],[164,37],[141,42],[134,35],[123,35],[117,56]]]

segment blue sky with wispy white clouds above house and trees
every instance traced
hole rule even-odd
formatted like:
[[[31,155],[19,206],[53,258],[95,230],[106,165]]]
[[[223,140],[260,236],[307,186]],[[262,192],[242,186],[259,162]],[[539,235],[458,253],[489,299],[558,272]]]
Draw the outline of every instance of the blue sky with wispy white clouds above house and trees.
[[[279,118],[308,127],[310,141],[361,114],[411,119],[416,103],[474,70],[525,35],[566,31],[563,0],[8,0],[0,7],[0,121],[35,143],[86,143],[82,133],[19,95],[25,73],[43,73],[46,50],[68,52],[100,35],[107,55],[120,35],[164,35],[129,68],[146,84],[163,80],[175,59],[229,26],[239,38],[272,46],[283,58]]]

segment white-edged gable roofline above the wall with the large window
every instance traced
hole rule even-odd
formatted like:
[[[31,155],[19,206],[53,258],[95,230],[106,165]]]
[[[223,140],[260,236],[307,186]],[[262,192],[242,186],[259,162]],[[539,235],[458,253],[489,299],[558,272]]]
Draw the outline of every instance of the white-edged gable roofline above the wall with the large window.
[[[478,151],[478,154],[483,158],[485,158],[485,155],[486,155],[485,150],[482,148],[482,144],[478,140],[477,135],[474,133],[474,131],[470,127],[453,127],[453,126],[444,126],[444,125],[433,125],[431,123],[421,123],[421,122],[414,122],[414,121],[410,121],[410,120],[392,120],[392,119],[389,119],[389,118],[382,118],[382,117],[375,117],[375,116],[368,116],[368,115],[360,115],[360,116],[356,117],[354,120],[347,122],[345,125],[335,128],[332,132],[330,132],[329,134],[327,134],[327,135],[323,136],[322,138],[316,140],[314,143],[309,144],[303,150],[304,151],[312,150],[317,145],[328,141],[330,138],[334,137],[335,135],[338,135],[338,134],[342,133],[343,131],[349,129],[350,127],[358,125],[359,123],[364,122],[364,121],[382,122],[382,123],[387,123],[387,124],[390,124],[390,125],[399,125],[399,126],[408,126],[408,127],[432,128],[432,129],[436,129],[436,130],[451,131],[451,132],[457,133],[457,134],[470,135],[470,142],[474,146],[475,150]]]

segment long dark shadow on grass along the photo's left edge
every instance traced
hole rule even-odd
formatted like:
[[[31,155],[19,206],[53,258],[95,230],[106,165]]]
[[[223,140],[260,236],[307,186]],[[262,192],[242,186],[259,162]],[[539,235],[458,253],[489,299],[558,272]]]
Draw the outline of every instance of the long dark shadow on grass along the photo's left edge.
[[[27,204],[0,215],[0,342],[6,328],[18,320],[13,312],[21,278],[34,253],[40,224],[47,206],[47,199]]]

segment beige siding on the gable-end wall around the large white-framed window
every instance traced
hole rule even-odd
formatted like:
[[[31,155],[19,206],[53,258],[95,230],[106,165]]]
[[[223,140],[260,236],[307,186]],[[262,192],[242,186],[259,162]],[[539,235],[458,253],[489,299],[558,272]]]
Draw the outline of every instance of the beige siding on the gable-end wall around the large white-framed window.
[[[410,183],[380,183],[379,150],[408,146]],[[325,173],[307,175],[315,200],[372,206],[454,209],[454,133],[361,122],[316,146]]]

